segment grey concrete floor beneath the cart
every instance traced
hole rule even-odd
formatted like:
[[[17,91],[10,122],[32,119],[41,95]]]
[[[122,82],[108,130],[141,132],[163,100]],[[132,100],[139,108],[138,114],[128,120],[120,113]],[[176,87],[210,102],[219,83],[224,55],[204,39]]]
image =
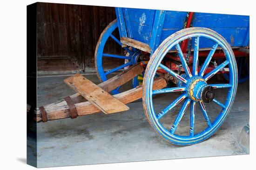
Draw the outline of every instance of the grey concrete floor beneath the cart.
[[[38,78],[38,106],[74,94],[63,82],[66,77]],[[96,75],[86,77],[99,83]],[[222,94],[222,91],[217,94]],[[157,108],[166,107],[177,95],[156,96]],[[222,101],[221,95],[218,99]],[[249,82],[239,84],[235,103],[221,128],[210,139],[196,145],[181,147],[169,144],[148,124],[141,101],[130,103],[128,107],[130,110],[122,113],[97,113],[73,120],[38,123],[38,167],[245,154],[238,141],[243,126],[249,122]],[[216,114],[216,107],[208,107],[211,117]],[[177,109],[169,114],[168,119],[175,118]],[[200,130],[206,123],[199,109],[197,111],[195,126]],[[181,123],[184,128],[189,123],[189,114],[186,115]]]

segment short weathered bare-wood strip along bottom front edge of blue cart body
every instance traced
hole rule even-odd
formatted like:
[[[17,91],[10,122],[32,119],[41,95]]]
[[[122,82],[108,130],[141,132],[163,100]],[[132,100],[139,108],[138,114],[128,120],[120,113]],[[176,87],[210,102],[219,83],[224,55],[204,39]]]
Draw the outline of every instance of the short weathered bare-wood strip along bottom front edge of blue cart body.
[[[132,39],[132,38],[121,37],[121,43],[125,44],[125,45],[128,45],[128,46],[135,47],[139,50],[142,50],[142,51],[145,51],[145,52],[148,52],[148,53],[151,52],[151,49],[150,49],[148,44],[142,43],[142,42],[137,41],[137,40]]]

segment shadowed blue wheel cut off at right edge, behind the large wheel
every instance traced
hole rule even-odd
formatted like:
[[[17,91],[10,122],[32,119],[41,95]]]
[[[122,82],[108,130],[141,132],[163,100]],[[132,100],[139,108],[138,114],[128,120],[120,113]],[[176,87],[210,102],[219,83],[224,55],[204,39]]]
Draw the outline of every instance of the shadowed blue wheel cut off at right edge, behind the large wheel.
[[[236,57],[238,69],[238,83],[247,82],[249,80],[249,62],[247,57]],[[223,74],[226,80],[229,80],[229,74]]]

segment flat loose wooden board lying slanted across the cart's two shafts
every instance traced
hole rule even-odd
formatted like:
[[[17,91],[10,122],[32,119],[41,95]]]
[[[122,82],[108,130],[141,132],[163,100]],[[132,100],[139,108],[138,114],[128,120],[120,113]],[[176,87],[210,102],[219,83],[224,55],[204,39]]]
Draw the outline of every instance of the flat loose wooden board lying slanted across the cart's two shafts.
[[[64,82],[105,114],[129,110],[128,106],[115,99],[111,94],[89,81],[81,74],[68,77]]]

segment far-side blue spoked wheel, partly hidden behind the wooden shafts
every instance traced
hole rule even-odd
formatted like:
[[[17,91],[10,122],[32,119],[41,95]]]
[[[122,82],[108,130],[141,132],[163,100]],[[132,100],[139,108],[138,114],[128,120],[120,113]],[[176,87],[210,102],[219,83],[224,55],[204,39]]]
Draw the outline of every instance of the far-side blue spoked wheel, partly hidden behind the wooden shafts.
[[[115,19],[102,31],[101,36],[96,45],[95,54],[94,54],[94,64],[95,64],[97,76],[101,80],[101,82],[105,82],[106,80],[108,80],[111,77],[110,74],[120,72],[125,67],[134,65],[137,62],[137,57],[140,54],[140,51],[134,48],[131,50],[128,47],[122,47],[120,39],[117,38],[113,33],[115,30],[118,30],[117,27],[118,25]],[[114,40],[116,44],[120,45],[120,48],[122,48],[123,50],[126,50],[128,53],[126,55],[105,53],[106,43],[109,39],[111,39],[112,41]],[[103,65],[104,57],[115,58],[115,59],[119,58],[123,60],[123,63],[120,66],[106,70],[104,69],[104,65]],[[127,59],[128,61],[127,63],[125,63],[125,59]],[[115,65],[114,62],[112,65]],[[136,86],[136,80],[137,80],[136,78],[137,77],[135,77],[133,80],[134,86]],[[118,94],[120,88],[121,87],[116,88],[115,90],[112,91],[112,93]]]

